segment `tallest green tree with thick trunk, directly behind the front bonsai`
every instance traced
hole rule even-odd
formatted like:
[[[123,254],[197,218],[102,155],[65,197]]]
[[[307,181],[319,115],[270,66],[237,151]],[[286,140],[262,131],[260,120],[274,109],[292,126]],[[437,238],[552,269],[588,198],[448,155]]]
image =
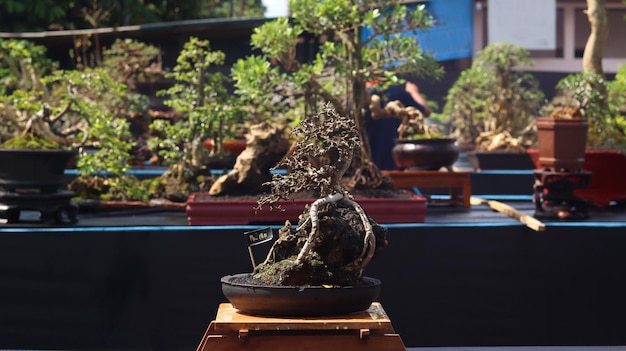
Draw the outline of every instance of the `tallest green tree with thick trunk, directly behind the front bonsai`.
[[[304,101],[305,111],[328,102],[340,115],[354,121],[361,150],[345,173],[345,183],[350,187],[376,187],[382,183],[371,161],[364,125],[363,115],[369,104],[365,82],[377,78],[385,86],[400,83],[400,73],[441,73],[414,37],[400,35],[428,28],[433,18],[423,5],[407,7],[401,3],[291,1],[293,21],[279,18],[256,28],[252,46],[261,55],[241,60],[234,68],[237,72],[255,72],[234,75],[238,93],[244,97],[267,96],[264,94],[280,90],[276,87],[289,87],[295,92],[292,96]],[[303,60],[297,48],[300,42],[310,45],[311,36],[320,38],[321,44],[314,58]]]

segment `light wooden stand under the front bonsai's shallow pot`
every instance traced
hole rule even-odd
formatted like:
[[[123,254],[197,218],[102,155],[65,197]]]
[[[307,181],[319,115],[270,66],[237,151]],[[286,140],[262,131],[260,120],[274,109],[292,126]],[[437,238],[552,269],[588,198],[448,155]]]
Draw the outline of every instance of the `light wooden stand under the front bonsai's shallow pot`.
[[[260,317],[220,304],[197,351],[406,351],[378,302],[337,317]]]

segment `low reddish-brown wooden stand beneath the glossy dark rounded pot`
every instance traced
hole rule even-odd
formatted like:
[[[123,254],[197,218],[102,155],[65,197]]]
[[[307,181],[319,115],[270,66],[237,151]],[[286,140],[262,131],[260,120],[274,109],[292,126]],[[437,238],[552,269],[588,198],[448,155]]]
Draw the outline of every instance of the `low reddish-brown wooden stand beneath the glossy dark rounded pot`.
[[[470,208],[472,182],[470,172],[440,171],[381,171],[389,178],[395,188],[447,188],[450,189],[449,200],[439,200],[451,205],[463,205]],[[462,192],[459,193],[459,190]]]

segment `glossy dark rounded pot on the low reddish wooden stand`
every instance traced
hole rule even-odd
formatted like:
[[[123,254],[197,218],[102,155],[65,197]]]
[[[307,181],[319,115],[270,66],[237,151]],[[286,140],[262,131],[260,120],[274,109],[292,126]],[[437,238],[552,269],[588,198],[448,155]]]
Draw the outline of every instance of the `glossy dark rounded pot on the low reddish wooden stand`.
[[[450,169],[459,157],[454,139],[398,139],[392,149],[393,160],[400,169],[436,171]]]

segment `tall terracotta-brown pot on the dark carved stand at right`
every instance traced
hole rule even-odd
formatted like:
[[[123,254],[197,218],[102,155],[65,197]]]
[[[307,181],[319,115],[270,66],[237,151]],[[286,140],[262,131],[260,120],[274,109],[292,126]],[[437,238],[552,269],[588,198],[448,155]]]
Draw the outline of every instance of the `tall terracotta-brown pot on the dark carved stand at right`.
[[[540,167],[554,172],[580,170],[585,162],[587,120],[538,117],[536,124]]]

